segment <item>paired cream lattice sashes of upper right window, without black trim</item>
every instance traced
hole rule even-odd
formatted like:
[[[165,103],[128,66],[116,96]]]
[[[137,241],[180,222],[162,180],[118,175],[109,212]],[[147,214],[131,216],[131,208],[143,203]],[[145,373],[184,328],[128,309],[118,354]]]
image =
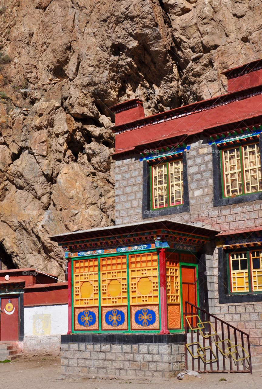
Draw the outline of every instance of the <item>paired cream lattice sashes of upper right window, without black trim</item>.
[[[259,144],[221,150],[225,197],[262,191]]]

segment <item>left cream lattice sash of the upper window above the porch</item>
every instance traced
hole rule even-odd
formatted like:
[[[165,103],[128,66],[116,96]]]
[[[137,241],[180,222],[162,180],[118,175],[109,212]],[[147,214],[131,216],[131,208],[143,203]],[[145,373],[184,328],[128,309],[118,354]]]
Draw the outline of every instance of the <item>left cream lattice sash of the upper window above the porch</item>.
[[[167,163],[152,167],[153,208],[167,207]]]

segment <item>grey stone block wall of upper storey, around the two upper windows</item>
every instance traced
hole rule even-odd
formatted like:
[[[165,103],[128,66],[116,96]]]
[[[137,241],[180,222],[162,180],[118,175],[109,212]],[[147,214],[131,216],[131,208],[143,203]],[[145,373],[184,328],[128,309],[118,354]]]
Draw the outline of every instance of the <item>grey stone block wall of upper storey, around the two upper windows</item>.
[[[213,206],[213,152],[208,138],[195,138],[186,151],[190,211],[167,219],[220,231],[262,225],[262,202]],[[142,221],[143,162],[139,154],[116,160],[116,224]],[[151,217],[147,220],[157,219]]]

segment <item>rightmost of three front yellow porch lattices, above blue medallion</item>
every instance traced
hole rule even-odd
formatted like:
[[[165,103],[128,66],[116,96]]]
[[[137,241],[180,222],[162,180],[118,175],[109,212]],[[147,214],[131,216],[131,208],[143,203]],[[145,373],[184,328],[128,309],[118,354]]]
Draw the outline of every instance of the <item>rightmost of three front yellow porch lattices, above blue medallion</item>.
[[[129,256],[130,304],[158,303],[158,257],[156,253]]]

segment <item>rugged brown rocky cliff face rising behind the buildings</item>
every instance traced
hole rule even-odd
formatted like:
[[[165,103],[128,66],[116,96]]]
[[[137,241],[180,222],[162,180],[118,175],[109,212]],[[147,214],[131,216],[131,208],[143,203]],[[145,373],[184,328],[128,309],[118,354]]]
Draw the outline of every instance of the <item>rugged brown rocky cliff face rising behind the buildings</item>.
[[[114,223],[113,117],[226,91],[262,56],[261,0],[5,0],[0,5],[0,257],[63,276],[48,236]]]

